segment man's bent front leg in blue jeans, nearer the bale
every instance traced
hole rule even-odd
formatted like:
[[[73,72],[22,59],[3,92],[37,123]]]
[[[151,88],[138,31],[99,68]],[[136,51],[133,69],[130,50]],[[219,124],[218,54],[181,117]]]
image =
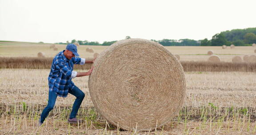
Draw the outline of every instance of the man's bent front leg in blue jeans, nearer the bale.
[[[71,114],[69,119],[76,118],[77,111],[84,99],[84,92],[81,91],[78,87],[74,86],[73,89],[68,90],[68,93],[76,96],[76,100],[73,104]]]

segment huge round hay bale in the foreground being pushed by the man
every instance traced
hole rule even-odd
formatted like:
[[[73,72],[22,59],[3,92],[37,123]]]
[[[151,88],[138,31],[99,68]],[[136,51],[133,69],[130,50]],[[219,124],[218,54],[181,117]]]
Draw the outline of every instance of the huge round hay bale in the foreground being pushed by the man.
[[[124,130],[153,130],[170,122],[185,96],[184,71],[162,45],[120,40],[100,53],[89,77],[96,110]]]

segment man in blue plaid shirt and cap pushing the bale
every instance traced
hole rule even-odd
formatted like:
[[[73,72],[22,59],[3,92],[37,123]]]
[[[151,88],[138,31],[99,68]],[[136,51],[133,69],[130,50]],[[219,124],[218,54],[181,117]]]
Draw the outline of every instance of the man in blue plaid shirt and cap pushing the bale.
[[[49,112],[53,109],[57,95],[60,97],[67,97],[68,93],[76,96],[76,100],[73,104],[71,114],[69,116],[69,123],[77,123],[81,120],[76,119],[77,111],[84,99],[84,92],[74,85],[71,81],[72,78],[90,75],[93,67],[88,72],[76,72],[73,71],[73,64],[85,64],[93,63],[94,60],[85,60],[77,53],[77,47],[75,44],[68,44],[66,50],[59,52],[52,61],[51,71],[48,77],[49,84],[49,99],[48,105],[44,108],[39,125],[44,123],[45,118]]]

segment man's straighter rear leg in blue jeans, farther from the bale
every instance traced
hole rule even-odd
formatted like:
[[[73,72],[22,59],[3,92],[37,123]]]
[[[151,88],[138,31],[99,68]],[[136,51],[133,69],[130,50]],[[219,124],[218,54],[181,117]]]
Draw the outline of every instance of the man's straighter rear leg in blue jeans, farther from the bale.
[[[49,112],[53,109],[56,102],[57,94],[54,92],[49,92],[48,105],[44,108],[41,117],[40,123],[44,123],[45,118],[48,116]]]

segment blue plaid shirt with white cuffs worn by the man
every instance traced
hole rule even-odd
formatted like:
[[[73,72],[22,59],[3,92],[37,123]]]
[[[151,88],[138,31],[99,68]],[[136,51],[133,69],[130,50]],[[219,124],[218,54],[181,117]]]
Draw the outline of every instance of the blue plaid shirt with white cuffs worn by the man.
[[[73,71],[74,64],[84,64],[85,59],[72,57],[68,60],[64,52],[59,52],[52,61],[51,71],[48,77],[49,91],[53,91],[60,97],[67,97],[68,89],[74,87],[72,78],[76,77],[77,72]]]

